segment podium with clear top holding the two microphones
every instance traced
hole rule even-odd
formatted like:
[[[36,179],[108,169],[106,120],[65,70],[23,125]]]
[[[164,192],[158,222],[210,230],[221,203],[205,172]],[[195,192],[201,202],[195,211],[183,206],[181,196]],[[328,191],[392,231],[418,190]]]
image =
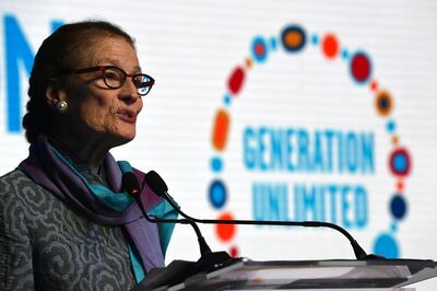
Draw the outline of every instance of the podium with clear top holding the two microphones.
[[[153,269],[132,291],[200,290],[414,290],[437,276],[437,263],[417,259],[255,261],[210,266],[175,260]]]

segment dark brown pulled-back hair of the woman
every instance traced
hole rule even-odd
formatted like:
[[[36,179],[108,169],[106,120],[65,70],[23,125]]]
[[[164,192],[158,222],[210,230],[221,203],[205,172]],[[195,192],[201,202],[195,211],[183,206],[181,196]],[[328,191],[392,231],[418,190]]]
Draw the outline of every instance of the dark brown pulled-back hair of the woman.
[[[62,85],[61,72],[75,68],[79,58],[99,37],[118,36],[134,48],[134,39],[120,27],[105,21],[84,21],[66,24],[47,37],[36,53],[29,78],[27,113],[23,127],[28,142],[34,142],[40,133],[50,133],[56,112],[47,103],[48,86]]]

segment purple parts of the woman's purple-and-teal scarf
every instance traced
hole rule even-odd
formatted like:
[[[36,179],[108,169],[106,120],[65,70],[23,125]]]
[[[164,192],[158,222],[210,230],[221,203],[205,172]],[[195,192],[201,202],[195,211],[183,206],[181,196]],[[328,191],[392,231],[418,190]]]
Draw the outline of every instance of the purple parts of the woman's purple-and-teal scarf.
[[[123,191],[121,171],[110,153],[106,154],[103,165],[109,188],[115,193]],[[31,144],[29,155],[20,163],[19,168],[36,184],[48,189],[90,220],[106,225],[123,226],[146,271],[164,267],[157,225],[142,218],[143,214],[137,203],[132,203],[127,210],[120,212],[98,201],[85,183],[56,156],[46,137],[39,136],[37,141]],[[144,173],[135,168],[133,173],[142,185],[141,201],[149,212],[163,198],[155,195],[144,183]]]

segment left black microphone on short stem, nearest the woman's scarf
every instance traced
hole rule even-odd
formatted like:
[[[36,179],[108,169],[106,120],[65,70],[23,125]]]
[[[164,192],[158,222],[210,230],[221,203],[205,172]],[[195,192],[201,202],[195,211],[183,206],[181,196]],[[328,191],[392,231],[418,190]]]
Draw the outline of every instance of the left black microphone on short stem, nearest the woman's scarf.
[[[138,183],[138,179],[135,177],[135,174],[132,172],[126,172],[122,177],[121,177],[122,185],[126,189],[126,191],[135,199],[137,205],[140,207],[141,212],[143,213],[144,218],[146,221],[152,222],[152,223],[181,223],[181,224],[190,224],[192,229],[196,232],[196,235],[198,237],[199,242],[199,247],[200,247],[200,256],[205,257],[209,254],[211,254],[211,248],[206,244],[206,241],[202,236],[202,233],[200,232],[199,226],[196,224],[194,221],[190,219],[156,219],[156,218],[150,218],[147,213],[145,212],[144,206],[141,202],[140,198],[140,193],[141,193],[141,187],[140,184]],[[152,189],[153,190],[153,189]],[[173,206],[173,205],[172,205]],[[175,208],[176,209],[176,208]]]

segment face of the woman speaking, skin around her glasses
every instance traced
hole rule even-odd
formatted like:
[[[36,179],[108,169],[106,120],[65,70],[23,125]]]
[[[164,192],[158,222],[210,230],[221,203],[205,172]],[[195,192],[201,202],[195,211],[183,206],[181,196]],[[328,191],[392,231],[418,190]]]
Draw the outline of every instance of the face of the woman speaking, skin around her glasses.
[[[141,72],[137,53],[121,37],[102,37],[81,55],[76,69],[115,66],[128,74]],[[109,89],[101,71],[72,73],[67,88],[69,124],[81,140],[97,139],[113,148],[135,137],[137,117],[143,102],[130,77],[121,88]]]

